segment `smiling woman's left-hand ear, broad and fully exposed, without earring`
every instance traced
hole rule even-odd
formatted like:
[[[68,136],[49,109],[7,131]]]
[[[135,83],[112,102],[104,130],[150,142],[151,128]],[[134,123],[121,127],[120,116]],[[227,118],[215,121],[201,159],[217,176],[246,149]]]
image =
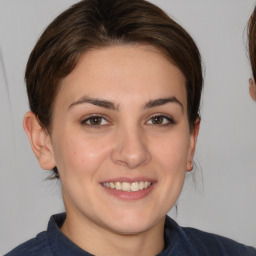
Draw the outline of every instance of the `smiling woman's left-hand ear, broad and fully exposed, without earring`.
[[[56,165],[50,135],[41,127],[33,112],[26,113],[23,127],[40,166],[46,170],[54,168]]]

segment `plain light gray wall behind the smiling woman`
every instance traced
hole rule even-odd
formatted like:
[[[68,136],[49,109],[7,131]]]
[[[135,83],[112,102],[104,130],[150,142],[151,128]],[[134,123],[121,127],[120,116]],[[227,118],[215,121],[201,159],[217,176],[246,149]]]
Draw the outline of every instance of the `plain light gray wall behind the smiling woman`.
[[[0,0],[0,254],[63,211],[60,184],[45,181],[22,128],[26,61],[45,26],[74,0]],[[197,42],[205,66],[198,169],[171,212],[193,226],[256,246],[256,104],[246,22],[254,0],[152,0]],[[6,79],[3,73],[6,71]],[[8,100],[9,99],[9,100]]]

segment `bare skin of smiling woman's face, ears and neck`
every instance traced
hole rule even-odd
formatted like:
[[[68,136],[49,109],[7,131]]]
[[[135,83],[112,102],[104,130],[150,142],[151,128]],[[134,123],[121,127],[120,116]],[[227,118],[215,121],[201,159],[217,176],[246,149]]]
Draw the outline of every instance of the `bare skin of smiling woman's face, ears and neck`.
[[[162,251],[199,130],[199,120],[189,129],[182,72],[152,46],[91,50],[61,82],[52,122],[49,134],[29,112],[24,128],[41,167],[58,168],[62,232],[96,255]],[[135,199],[102,186],[122,179],[152,186]]]

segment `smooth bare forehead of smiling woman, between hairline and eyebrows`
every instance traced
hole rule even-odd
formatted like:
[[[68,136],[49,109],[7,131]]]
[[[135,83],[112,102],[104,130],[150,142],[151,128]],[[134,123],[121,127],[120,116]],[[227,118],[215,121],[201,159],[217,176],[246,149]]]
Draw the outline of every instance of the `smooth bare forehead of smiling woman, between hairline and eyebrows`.
[[[62,80],[57,99],[72,101],[83,94],[111,101],[128,96],[145,101],[176,96],[186,105],[184,75],[148,45],[111,46],[84,53]]]

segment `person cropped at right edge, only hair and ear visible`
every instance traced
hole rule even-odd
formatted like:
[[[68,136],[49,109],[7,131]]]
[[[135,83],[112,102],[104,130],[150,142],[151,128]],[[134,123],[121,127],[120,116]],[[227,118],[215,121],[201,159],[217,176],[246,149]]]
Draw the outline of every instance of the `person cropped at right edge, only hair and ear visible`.
[[[249,39],[249,56],[252,66],[253,78],[249,79],[250,84],[250,95],[253,100],[256,100],[256,8],[254,9],[250,20],[248,22],[248,39]]]

